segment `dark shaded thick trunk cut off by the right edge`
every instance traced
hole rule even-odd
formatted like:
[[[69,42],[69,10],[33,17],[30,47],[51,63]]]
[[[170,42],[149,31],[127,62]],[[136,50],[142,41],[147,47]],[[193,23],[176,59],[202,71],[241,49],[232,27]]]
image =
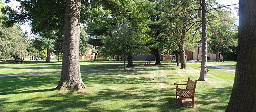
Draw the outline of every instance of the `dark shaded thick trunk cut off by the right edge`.
[[[255,0],[239,0],[236,74],[226,112],[256,112],[255,6]]]

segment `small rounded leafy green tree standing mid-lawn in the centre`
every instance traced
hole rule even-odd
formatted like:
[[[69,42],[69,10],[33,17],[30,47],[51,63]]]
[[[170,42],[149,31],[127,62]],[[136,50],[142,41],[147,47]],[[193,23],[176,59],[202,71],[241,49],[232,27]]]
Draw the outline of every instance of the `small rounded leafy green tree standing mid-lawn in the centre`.
[[[134,55],[138,55],[145,51],[141,40],[137,38],[135,29],[124,23],[111,31],[111,36],[105,36],[103,38],[104,50],[108,54],[123,56],[124,59],[128,59],[128,67],[132,67],[132,58]],[[124,70],[125,68],[124,60]]]

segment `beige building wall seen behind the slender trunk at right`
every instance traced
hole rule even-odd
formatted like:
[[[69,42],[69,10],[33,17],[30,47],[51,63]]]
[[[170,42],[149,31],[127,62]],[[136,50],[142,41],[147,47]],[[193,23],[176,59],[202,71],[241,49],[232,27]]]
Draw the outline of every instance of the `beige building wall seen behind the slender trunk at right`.
[[[192,52],[193,60],[197,60],[197,48],[198,47],[194,47],[195,52]],[[207,52],[207,56],[210,56],[210,60],[216,60],[216,55],[213,53]],[[223,59],[222,55],[220,55],[220,58]],[[202,46],[199,48],[199,60],[202,60]]]

